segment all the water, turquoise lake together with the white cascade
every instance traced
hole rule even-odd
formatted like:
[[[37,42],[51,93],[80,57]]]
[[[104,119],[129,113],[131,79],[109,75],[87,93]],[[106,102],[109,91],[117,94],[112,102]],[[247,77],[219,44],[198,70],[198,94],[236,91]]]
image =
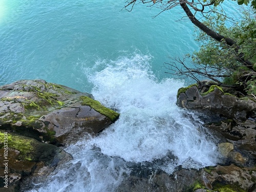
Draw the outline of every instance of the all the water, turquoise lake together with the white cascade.
[[[152,18],[159,9],[136,5],[128,12],[124,5],[0,1],[0,85],[45,79],[92,93],[121,114],[98,137],[65,148],[74,159],[27,191],[109,192],[129,177],[129,163],[150,162],[152,170],[172,174],[179,165],[219,162],[218,140],[176,105],[178,89],[191,82],[164,73],[169,57],[198,49],[193,25],[176,22],[184,16],[178,7]]]

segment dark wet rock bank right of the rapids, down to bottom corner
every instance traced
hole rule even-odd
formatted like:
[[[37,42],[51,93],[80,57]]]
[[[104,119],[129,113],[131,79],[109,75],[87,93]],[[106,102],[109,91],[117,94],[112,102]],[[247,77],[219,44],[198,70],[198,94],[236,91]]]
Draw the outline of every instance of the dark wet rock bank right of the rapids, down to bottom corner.
[[[218,86],[202,92],[191,85],[179,90],[177,105],[199,113],[205,127],[220,139],[223,156],[218,166],[201,170],[186,190],[256,191],[256,101],[224,93]]]

